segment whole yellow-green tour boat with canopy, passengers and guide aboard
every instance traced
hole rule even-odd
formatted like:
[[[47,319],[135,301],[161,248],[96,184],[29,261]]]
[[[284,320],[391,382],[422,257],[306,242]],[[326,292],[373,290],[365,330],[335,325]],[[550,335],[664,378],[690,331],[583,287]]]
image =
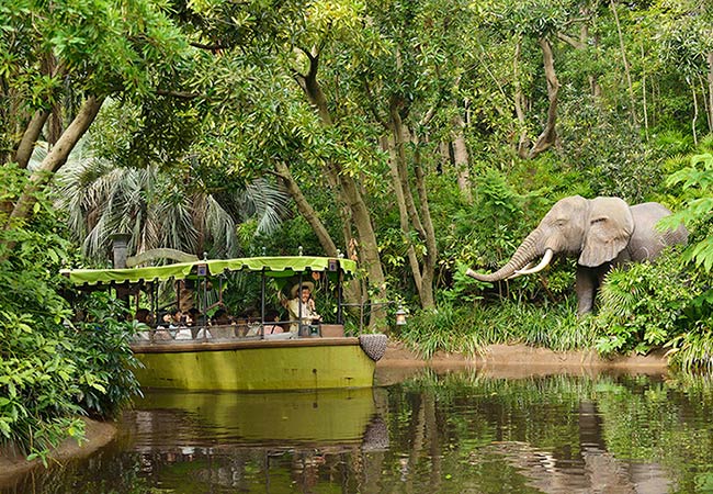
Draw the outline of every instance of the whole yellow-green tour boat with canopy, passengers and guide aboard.
[[[113,289],[135,307],[131,346],[143,386],[185,390],[372,386],[386,336],[344,335],[342,283],[355,272],[353,260],[313,256],[61,271],[78,290]],[[236,273],[257,276],[260,293],[257,306],[233,315],[224,294]],[[159,287],[176,289],[172,311],[161,311]]]

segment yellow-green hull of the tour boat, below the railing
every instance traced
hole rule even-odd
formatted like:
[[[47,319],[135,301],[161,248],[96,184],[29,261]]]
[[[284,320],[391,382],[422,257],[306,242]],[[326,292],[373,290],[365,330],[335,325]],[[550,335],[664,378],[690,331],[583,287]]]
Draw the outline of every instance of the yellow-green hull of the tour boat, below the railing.
[[[278,391],[370,388],[375,362],[358,338],[134,345],[145,388]]]

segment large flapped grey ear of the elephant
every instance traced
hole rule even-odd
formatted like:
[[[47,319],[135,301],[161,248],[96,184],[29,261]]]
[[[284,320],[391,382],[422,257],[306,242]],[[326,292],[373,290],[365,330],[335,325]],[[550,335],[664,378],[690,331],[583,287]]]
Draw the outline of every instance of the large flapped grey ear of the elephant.
[[[592,199],[579,263],[593,268],[613,260],[634,232],[634,218],[619,198]]]

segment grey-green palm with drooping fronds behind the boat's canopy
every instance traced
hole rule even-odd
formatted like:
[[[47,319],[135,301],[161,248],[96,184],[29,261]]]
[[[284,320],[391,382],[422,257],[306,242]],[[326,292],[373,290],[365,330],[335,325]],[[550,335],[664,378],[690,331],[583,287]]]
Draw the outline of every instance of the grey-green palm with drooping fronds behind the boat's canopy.
[[[42,156],[42,147],[36,150]],[[84,256],[103,261],[113,233],[129,233],[129,249],[168,247],[203,257],[240,254],[236,225],[253,218],[257,233],[271,233],[286,214],[287,194],[267,179],[213,194],[200,177],[174,180],[156,165],[116,167],[94,157],[86,145],[55,179],[57,205],[81,243]]]

